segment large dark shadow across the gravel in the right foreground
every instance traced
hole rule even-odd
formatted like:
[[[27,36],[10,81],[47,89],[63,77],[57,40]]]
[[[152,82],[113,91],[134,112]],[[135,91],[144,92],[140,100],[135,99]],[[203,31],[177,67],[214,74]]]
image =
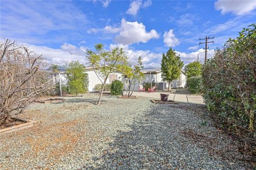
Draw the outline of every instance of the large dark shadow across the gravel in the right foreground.
[[[201,127],[198,116],[172,107],[152,104],[129,126],[131,131],[119,132],[93,165],[81,169],[248,169],[234,159],[239,153],[227,136],[203,134],[210,127]]]

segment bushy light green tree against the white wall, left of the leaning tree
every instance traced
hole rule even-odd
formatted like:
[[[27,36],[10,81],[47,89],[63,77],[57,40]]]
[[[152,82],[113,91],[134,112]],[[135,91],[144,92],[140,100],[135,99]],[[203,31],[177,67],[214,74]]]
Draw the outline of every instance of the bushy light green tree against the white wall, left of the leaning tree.
[[[79,63],[79,61],[72,61],[69,63],[66,72],[68,79],[68,89],[71,94],[75,94],[77,96],[79,93],[87,92],[89,78],[84,70],[84,64]]]

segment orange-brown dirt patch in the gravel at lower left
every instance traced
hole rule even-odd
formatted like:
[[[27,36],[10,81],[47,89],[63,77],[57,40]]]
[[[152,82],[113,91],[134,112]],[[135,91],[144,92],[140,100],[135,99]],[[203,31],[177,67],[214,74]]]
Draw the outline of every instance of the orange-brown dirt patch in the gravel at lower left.
[[[47,154],[47,159],[57,161],[60,156],[73,150],[73,146],[82,135],[72,129],[74,126],[81,126],[87,120],[77,119],[70,122],[57,123],[49,126],[37,126],[33,131],[37,133],[36,139],[28,137],[27,142],[31,146],[31,151],[26,152],[26,155],[36,157],[39,153]],[[54,157],[52,157],[54,156]]]

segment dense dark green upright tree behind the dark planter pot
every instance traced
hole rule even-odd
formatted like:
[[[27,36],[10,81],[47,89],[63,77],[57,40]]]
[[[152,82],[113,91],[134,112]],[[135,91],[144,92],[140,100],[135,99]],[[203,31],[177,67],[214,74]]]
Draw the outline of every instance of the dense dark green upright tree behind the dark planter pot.
[[[172,48],[170,48],[166,55],[163,53],[161,70],[162,70],[162,78],[164,81],[168,81],[170,88],[170,84],[172,80],[179,78],[180,70],[184,66],[183,61],[180,60],[180,56],[175,53]]]

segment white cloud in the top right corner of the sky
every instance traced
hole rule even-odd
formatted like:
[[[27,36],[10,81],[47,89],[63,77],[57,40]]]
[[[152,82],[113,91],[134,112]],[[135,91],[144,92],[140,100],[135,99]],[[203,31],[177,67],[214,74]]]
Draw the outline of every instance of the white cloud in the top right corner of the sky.
[[[218,0],[214,3],[215,9],[220,10],[221,14],[226,14],[228,12],[234,13],[236,15],[248,14],[254,9],[256,9],[256,1],[225,1]]]

